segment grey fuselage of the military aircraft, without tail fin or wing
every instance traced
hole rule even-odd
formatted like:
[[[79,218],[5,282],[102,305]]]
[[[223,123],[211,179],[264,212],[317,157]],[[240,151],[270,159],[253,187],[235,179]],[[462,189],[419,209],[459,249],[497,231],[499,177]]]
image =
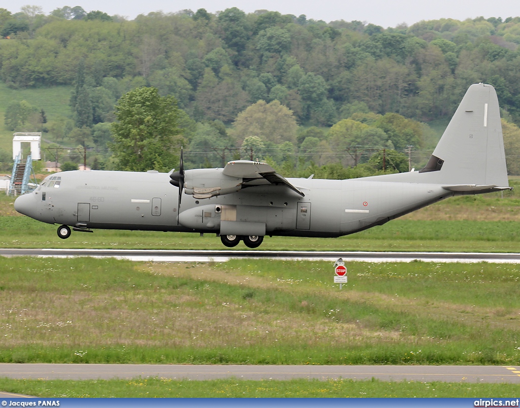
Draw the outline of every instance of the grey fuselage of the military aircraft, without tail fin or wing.
[[[34,192],[17,199],[16,209],[79,229],[336,237],[453,195],[441,185],[399,182],[395,176],[288,179],[303,197],[271,185],[207,199],[182,194],[178,208],[178,188],[170,185],[166,173],[78,170],[46,177]]]

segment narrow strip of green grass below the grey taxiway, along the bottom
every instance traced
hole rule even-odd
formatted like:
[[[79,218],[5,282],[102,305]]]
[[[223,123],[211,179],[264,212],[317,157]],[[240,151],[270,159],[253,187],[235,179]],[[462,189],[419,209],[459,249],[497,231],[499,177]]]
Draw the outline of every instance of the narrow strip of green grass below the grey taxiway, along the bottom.
[[[514,396],[516,384],[420,383],[379,380],[16,380],[0,389],[41,398],[480,398]]]

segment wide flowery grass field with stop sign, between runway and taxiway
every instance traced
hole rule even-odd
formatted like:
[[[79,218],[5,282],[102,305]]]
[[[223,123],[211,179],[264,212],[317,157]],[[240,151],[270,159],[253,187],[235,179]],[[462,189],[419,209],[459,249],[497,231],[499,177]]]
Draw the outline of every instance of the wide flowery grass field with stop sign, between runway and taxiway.
[[[0,362],[518,364],[516,266],[5,258]]]

